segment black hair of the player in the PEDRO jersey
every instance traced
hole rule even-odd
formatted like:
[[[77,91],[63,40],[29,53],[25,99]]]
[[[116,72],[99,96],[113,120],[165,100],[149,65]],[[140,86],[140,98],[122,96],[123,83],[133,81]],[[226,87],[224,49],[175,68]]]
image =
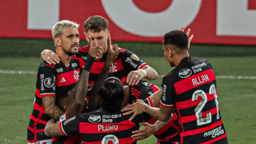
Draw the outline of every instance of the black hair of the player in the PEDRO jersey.
[[[122,108],[124,100],[124,88],[122,83],[107,80],[104,82],[99,92],[100,106],[103,110],[113,113]]]

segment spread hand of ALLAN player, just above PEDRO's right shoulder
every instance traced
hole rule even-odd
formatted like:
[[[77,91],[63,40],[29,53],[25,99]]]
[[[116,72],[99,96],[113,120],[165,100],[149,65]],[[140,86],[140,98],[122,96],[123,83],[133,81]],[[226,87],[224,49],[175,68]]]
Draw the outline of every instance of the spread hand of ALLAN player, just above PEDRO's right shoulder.
[[[132,117],[129,119],[129,120],[132,120],[136,115],[143,113],[146,106],[147,104],[143,100],[137,99],[136,103],[133,103],[131,105],[124,107],[121,110],[121,112],[124,112],[123,115],[128,115],[133,113]]]

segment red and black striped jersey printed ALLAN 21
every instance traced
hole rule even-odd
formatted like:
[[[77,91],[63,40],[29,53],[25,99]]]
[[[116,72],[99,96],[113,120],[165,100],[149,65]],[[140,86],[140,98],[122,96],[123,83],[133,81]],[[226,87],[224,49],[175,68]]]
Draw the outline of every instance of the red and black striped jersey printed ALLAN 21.
[[[181,144],[227,143],[220,116],[216,76],[205,59],[186,57],[161,84],[161,105],[174,107],[181,124]]]

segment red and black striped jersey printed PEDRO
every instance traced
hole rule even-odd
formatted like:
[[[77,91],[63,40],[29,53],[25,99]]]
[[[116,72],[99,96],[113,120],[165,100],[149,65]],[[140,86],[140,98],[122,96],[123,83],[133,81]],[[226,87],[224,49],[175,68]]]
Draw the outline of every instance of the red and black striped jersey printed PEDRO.
[[[149,120],[151,116],[142,113],[130,121],[131,116],[98,109],[66,119],[59,126],[65,136],[79,134],[84,144],[136,144],[136,140],[131,137],[132,131],[138,130],[139,123]]]

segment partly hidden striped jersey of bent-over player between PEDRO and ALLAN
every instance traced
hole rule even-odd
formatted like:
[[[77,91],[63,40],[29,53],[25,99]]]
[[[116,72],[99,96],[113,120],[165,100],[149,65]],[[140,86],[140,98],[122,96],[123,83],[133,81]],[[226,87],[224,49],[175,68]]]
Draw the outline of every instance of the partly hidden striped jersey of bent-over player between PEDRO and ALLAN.
[[[142,99],[145,103],[152,106],[151,100],[148,98],[153,93],[157,92],[159,88],[152,84],[148,83],[145,80],[140,80],[137,85],[129,86],[129,104],[136,102],[137,99]],[[150,124],[153,124],[157,121],[155,118],[151,118],[147,121]],[[177,114],[174,113],[172,119],[166,124],[164,127],[159,129],[157,132],[153,134],[158,143],[160,144],[171,144],[174,142],[178,142],[180,140],[180,128]]]

